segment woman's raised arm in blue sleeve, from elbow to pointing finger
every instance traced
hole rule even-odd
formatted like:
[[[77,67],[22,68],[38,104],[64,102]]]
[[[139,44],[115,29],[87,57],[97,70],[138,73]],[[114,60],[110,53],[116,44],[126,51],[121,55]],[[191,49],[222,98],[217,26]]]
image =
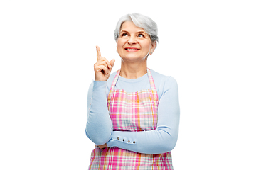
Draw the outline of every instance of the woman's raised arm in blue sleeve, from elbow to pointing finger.
[[[95,81],[91,84],[87,98],[87,123],[85,133],[96,145],[103,145],[111,139],[112,122],[107,110],[106,87],[114,66],[101,57],[100,47],[96,46],[97,62],[94,64]]]

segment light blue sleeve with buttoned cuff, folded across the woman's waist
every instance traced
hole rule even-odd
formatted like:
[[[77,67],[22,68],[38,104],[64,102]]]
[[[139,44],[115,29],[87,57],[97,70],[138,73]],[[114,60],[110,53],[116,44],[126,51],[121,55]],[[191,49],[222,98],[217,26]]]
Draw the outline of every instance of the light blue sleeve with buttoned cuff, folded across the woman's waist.
[[[179,125],[178,86],[173,77],[164,84],[159,99],[156,130],[142,132],[112,132],[108,147],[119,147],[144,154],[159,154],[174,149]]]

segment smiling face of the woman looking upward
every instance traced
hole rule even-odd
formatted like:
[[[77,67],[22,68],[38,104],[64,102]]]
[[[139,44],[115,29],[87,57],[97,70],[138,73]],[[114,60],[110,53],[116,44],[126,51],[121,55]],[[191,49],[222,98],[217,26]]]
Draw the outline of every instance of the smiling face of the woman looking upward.
[[[154,52],[156,42],[151,43],[149,35],[143,28],[134,25],[132,21],[125,21],[117,39],[117,52],[122,60],[137,62],[144,60],[150,52]]]

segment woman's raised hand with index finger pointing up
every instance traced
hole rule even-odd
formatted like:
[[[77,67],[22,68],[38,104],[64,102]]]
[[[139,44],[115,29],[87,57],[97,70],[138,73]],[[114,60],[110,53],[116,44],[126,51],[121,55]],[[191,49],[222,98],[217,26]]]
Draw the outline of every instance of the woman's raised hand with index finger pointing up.
[[[100,47],[96,46],[97,62],[94,65],[95,81],[107,81],[110,77],[111,70],[114,66],[114,59],[110,62],[106,58],[102,58],[100,54]]]

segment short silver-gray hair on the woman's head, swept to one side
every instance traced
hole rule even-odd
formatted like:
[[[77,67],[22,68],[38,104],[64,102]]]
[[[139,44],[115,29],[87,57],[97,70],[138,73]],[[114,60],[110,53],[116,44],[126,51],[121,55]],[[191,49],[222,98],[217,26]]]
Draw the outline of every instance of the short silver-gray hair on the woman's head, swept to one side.
[[[119,21],[117,22],[117,27],[114,30],[114,40],[117,41],[120,28],[125,21],[132,21],[135,26],[143,28],[145,32],[150,36],[152,43],[155,41],[158,42],[156,23],[148,16],[143,16],[139,13],[127,14],[119,19]]]

